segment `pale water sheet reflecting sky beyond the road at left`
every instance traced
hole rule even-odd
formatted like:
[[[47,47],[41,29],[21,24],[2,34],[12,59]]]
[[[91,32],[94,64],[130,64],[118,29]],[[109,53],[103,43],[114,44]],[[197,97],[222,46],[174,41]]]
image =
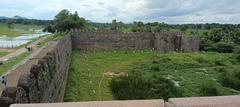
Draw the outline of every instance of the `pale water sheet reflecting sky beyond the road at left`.
[[[51,33],[38,32],[36,34],[24,34],[14,38],[0,36],[0,48],[16,48],[47,34]]]

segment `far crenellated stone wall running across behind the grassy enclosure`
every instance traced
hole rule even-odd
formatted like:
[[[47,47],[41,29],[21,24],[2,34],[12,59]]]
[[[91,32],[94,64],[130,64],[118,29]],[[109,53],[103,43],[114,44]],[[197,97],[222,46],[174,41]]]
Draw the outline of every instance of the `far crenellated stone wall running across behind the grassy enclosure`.
[[[158,51],[198,51],[199,38],[179,32],[135,32],[72,30],[73,48],[87,50],[155,49]]]

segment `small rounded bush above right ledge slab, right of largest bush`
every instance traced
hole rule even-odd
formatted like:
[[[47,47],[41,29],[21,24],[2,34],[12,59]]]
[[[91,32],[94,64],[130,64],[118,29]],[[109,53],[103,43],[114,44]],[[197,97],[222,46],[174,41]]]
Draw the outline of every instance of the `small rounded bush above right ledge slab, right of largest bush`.
[[[201,96],[218,96],[221,95],[218,87],[212,82],[202,83],[199,93]]]

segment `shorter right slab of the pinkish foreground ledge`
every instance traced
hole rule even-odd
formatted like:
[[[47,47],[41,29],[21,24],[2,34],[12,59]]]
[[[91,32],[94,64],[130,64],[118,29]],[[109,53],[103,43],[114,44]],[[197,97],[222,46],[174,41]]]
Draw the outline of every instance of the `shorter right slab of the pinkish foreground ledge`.
[[[240,95],[170,98],[169,107],[240,107]]]

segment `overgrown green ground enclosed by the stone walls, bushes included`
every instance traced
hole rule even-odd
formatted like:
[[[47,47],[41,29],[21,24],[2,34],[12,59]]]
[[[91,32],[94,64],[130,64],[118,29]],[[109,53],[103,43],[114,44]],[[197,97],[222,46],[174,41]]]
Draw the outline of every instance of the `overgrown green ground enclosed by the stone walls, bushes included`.
[[[240,69],[236,57],[216,52],[73,51],[64,100],[236,95],[237,89],[221,82],[225,71]]]

